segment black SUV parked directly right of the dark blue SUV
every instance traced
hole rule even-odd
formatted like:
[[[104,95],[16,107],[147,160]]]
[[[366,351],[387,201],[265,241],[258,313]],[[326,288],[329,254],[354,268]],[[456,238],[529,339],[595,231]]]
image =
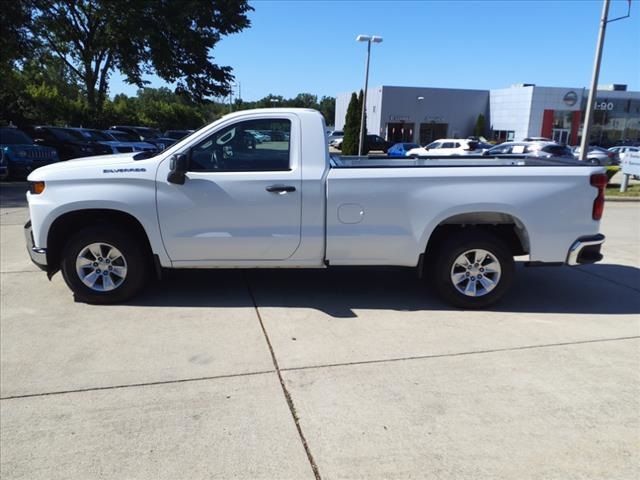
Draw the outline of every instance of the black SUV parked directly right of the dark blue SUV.
[[[36,144],[55,148],[60,160],[112,153],[111,148],[88,140],[72,128],[35,126],[28,127],[27,132]]]

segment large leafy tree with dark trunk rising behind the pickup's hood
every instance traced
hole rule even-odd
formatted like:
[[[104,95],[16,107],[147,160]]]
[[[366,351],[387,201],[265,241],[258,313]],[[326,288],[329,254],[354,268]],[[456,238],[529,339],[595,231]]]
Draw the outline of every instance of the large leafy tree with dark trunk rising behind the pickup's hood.
[[[11,3],[11,2],[9,2]],[[246,0],[22,0],[41,51],[62,59],[100,115],[115,70],[143,87],[155,73],[191,99],[229,93],[231,67],[213,63],[224,35],[250,25]]]

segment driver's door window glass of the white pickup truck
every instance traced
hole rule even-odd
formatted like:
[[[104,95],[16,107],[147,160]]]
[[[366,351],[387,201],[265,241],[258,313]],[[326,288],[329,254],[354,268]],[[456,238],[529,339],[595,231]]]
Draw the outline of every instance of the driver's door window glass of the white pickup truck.
[[[285,119],[234,123],[192,147],[189,171],[290,170],[291,122]]]

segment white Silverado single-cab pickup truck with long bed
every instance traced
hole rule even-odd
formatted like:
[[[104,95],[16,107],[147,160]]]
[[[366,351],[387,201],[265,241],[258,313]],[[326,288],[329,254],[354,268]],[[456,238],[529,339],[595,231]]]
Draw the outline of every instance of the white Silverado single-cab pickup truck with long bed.
[[[393,265],[417,268],[455,306],[480,308],[509,287],[514,256],[602,258],[602,167],[332,158],[322,116],[293,108],[230,114],[150,155],[29,175],[28,251],[81,301],[122,302],[163,268]]]

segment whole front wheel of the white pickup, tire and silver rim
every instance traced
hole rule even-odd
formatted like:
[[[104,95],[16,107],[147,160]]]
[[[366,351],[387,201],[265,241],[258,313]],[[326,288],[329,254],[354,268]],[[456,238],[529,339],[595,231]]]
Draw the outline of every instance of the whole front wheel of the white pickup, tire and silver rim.
[[[62,276],[77,300],[120,303],[144,287],[146,258],[135,237],[114,227],[89,227],[74,235],[64,247]]]

